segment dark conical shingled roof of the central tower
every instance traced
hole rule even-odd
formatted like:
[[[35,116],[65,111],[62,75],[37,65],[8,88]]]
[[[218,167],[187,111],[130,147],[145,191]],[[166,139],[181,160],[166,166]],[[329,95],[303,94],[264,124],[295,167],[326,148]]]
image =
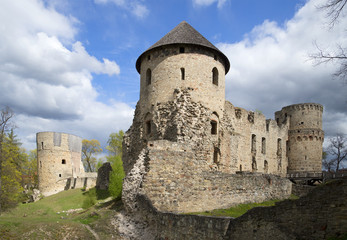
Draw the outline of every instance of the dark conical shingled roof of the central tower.
[[[216,53],[218,53],[225,63],[225,73],[229,71],[230,62],[229,59],[212,43],[210,43],[204,36],[202,36],[198,31],[196,31],[192,26],[190,26],[186,21],[178,24],[174,29],[172,29],[168,34],[166,34],[162,39],[148,48],[145,52],[143,52],[140,57],[136,61],[136,69],[140,73],[141,66],[141,58],[148,51],[163,47],[166,45],[173,44],[191,44],[191,45],[199,45],[206,48],[209,48]]]

